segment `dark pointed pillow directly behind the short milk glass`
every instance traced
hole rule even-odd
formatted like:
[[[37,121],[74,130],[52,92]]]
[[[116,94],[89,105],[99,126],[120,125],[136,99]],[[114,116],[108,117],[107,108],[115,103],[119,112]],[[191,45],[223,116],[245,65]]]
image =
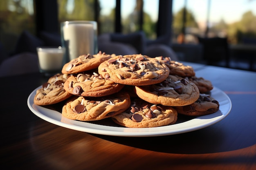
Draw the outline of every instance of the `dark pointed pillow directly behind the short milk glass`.
[[[18,54],[18,53],[22,53],[22,52],[37,53],[36,47],[44,46],[44,45],[45,44],[42,40],[35,37],[28,31],[23,31],[16,43],[16,48],[14,50],[14,54]]]

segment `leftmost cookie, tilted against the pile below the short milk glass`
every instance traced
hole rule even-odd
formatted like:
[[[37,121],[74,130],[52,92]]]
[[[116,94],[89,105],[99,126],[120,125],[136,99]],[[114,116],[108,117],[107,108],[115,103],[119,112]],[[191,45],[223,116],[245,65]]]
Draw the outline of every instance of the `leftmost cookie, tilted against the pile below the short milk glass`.
[[[36,91],[34,97],[34,104],[36,105],[49,105],[61,102],[72,94],[64,90],[63,84],[70,75],[67,74],[56,74],[48,79],[42,85],[42,88]]]

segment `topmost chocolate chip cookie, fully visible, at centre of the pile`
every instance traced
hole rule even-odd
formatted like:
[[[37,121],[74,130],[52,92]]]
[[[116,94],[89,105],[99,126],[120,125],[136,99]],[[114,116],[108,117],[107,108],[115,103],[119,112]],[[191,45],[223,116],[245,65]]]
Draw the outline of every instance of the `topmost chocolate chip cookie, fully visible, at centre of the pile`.
[[[169,68],[146,55],[118,55],[99,65],[99,73],[115,83],[143,86],[162,82]]]

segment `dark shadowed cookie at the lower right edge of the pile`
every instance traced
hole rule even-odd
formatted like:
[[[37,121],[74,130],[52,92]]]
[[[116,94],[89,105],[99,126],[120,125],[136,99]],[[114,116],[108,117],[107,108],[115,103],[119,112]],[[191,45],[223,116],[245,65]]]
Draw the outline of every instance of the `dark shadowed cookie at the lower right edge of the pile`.
[[[219,102],[213,97],[207,94],[200,94],[199,99],[195,103],[174,108],[182,115],[202,116],[217,112],[219,107]]]

